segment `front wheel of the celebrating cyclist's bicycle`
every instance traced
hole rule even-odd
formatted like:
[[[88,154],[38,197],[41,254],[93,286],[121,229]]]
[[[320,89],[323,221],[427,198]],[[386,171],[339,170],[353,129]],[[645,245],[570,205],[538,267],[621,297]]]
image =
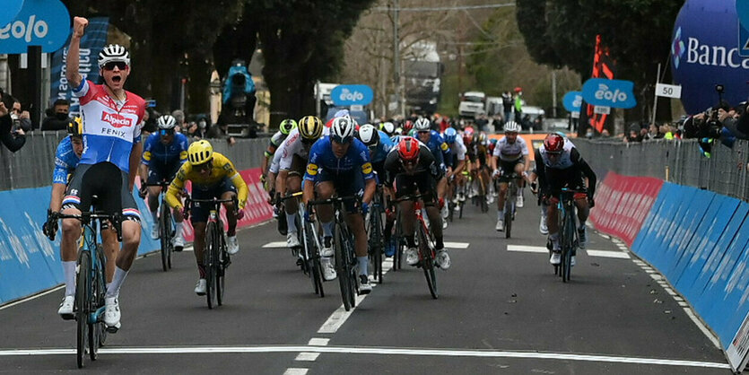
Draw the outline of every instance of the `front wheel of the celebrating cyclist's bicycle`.
[[[78,368],[83,367],[86,356],[86,340],[89,338],[89,310],[91,306],[91,253],[81,251],[78,255],[78,275],[75,277],[76,359]]]

